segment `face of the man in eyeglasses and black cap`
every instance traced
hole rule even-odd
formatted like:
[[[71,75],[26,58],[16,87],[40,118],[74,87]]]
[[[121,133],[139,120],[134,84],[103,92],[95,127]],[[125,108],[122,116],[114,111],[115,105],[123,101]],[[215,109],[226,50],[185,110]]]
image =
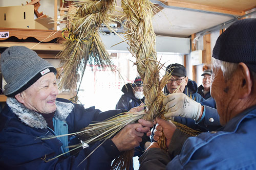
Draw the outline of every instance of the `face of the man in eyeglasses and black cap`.
[[[187,85],[187,77],[172,76],[166,84],[166,88],[170,93],[173,93],[176,89],[176,93],[182,93]]]

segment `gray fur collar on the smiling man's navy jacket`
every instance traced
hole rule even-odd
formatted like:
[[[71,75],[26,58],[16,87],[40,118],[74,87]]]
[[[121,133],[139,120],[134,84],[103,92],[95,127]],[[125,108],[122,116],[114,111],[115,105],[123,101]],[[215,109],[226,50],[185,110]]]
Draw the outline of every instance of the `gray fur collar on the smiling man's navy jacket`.
[[[54,117],[61,121],[66,122],[66,118],[74,108],[72,103],[56,102],[56,111]],[[7,105],[11,108],[12,112],[20,118],[20,120],[31,128],[46,129],[47,123],[41,114],[27,109],[23,104],[19,103],[14,98],[7,98]]]

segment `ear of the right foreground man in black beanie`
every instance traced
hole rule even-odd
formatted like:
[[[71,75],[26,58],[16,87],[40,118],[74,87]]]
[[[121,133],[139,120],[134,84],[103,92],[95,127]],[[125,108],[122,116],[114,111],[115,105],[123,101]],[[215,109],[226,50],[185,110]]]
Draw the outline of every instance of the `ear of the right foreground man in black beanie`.
[[[250,77],[250,70],[245,63],[239,63],[238,70],[238,76],[240,77],[239,82],[237,82],[239,85],[238,98],[244,99],[252,92],[253,80]]]

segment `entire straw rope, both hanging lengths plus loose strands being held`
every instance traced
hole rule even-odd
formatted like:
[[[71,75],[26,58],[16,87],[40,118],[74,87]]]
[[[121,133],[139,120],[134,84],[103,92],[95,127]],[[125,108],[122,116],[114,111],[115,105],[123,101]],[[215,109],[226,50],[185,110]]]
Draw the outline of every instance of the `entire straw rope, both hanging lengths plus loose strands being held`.
[[[61,86],[74,89],[77,82],[77,72],[84,72],[87,62],[98,67],[112,66],[108,53],[105,51],[98,35],[101,23],[108,26],[112,19],[108,17],[108,11],[113,10],[113,0],[89,1],[80,0],[74,6],[78,8],[70,22],[72,27],[69,31],[64,50],[59,54],[63,66]],[[153,121],[157,116],[164,118],[162,101],[165,94],[162,89],[171,77],[166,74],[160,80],[159,70],[162,68],[157,62],[155,52],[155,33],[152,27],[153,4],[149,0],[122,0],[123,11],[126,15],[125,29],[126,40],[129,40],[130,51],[136,56],[138,72],[143,80],[145,106],[147,109],[140,113],[128,113],[106,120],[102,123],[91,124],[78,135],[87,144],[98,140],[105,140],[115,135],[127,124],[135,123],[139,118]],[[94,58],[93,58],[94,57]],[[111,67],[112,68],[112,67]],[[113,69],[113,68],[112,68]],[[186,126],[175,123],[182,131],[193,134]],[[102,131],[103,130],[103,131]],[[71,135],[71,134],[69,134]],[[47,138],[45,138],[47,139]],[[164,148],[164,137],[159,145]],[[82,145],[75,146],[76,148]],[[123,152],[115,159],[113,169],[129,169],[134,150]],[[132,163],[132,162],[131,162]]]

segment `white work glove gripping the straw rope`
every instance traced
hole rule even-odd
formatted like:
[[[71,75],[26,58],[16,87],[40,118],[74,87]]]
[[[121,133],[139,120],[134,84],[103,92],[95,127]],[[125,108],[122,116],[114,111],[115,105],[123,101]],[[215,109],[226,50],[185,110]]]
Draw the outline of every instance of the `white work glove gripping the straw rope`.
[[[181,116],[198,120],[201,113],[201,104],[190,99],[184,93],[168,94],[163,101],[165,105],[164,117]]]

